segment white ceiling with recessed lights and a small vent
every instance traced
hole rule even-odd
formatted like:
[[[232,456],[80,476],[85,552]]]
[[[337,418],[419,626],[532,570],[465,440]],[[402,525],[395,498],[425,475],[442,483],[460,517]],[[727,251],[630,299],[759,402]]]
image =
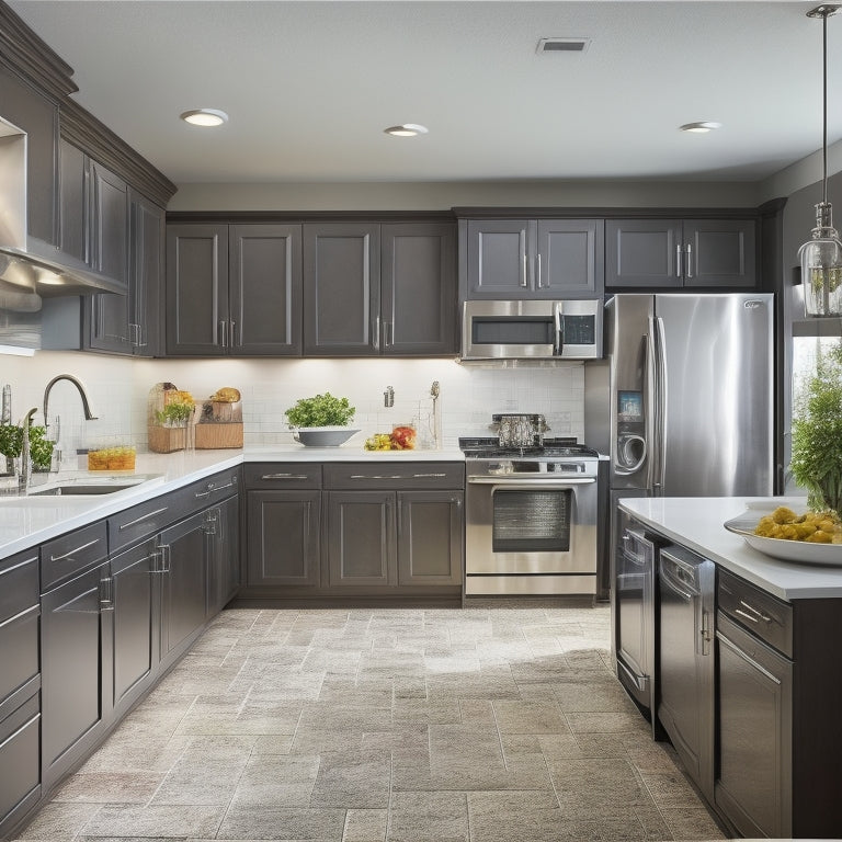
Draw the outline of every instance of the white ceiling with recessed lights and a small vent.
[[[821,145],[813,2],[7,0],[177,184],[764,179]],[[842,14],[828,22],[842,137]],[[542,37],[584,54],[537,55]],[[218,129],[189,109],[226,111]],[[718,121],[692,135],[678,126]],[[383,129],[421,123],[430,134]]]

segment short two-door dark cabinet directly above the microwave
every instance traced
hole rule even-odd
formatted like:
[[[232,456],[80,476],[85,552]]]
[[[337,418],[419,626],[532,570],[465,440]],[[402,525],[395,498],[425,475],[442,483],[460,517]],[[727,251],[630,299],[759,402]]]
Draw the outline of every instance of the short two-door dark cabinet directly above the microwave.
[[[602,295],[602,219],[462,220],[463,298]]]

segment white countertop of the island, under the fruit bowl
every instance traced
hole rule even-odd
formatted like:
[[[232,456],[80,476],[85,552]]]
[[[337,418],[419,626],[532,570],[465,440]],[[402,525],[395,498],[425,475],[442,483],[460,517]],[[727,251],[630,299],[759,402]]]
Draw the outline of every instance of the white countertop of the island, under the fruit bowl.
[[[820,567],[781,561],[750,547],[722,524],[742,514],[747,503],[774,500],[777,504],[805,507],[804,498],[661,497],[624,498],[621,509],[778,599],[842,598],[842,567]],[[795,507],[794,507],[795,508]]]

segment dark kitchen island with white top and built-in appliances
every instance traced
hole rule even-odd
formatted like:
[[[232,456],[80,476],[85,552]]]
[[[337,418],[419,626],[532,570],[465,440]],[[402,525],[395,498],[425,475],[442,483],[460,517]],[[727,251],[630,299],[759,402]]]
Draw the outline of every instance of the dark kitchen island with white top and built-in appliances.
[[[770,504],[806,509],[804,498],[621,500],[612,652],[653,732],[737,834],[839,839],[842,566],[782,561],[725,528]]]

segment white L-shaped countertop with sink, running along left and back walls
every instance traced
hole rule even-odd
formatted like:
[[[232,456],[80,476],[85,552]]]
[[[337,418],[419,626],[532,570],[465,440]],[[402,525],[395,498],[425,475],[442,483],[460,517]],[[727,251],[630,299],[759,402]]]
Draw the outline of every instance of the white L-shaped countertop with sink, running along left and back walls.
[[[96,497],[0,497],[0,558],[30,549],[167,491],[249,462],[464,462],[462,451],[364,451],[356,445],[305,447],[300,444],[237,451],[139,453],[134,471],[62,470],[48,482],[104,477],[149,477],[133,488]],[[36,475],[35,481],[39,479]],[[37,490],[36,486],[31,489]]]

